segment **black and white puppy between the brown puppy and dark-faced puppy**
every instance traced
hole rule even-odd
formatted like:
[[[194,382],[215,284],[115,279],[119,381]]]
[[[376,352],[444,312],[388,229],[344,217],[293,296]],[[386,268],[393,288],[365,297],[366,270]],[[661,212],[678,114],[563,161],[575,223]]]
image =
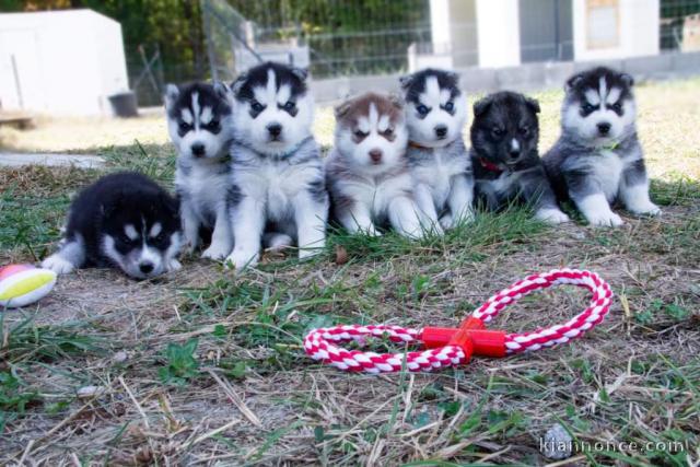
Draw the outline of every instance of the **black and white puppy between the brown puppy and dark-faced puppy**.
[[[427,69],[400,80],[409,132],[408,161],[418,206],[438,233],[470,220],[474,199],[471,163],[462,131],[467,100],[459,77]]]

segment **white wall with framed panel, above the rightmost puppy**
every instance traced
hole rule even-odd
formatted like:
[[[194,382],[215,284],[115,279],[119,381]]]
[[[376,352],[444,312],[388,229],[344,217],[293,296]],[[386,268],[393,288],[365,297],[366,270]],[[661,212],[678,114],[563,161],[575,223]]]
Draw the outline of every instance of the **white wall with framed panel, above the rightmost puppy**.
[[[574,59],[605,60],[658,54],[658,1],[619,0],[618,8],[593,11],[590,0],[573,0]],[[614,34],[616,30],[617,34]],[[611,40],[596,45],[599,32],[605,32]],[[597,37],[606,43],[606,35]]]

